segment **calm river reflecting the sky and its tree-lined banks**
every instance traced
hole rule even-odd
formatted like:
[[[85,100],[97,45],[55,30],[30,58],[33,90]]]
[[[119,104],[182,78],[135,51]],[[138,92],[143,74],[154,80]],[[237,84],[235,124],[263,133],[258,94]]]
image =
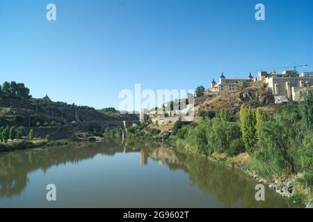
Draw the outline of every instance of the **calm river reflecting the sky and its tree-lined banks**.
[[[56,185],[56,201],[46,187]],[[169,146],[74,144],[0,153],[0,207],[297,207],[236,169]]]

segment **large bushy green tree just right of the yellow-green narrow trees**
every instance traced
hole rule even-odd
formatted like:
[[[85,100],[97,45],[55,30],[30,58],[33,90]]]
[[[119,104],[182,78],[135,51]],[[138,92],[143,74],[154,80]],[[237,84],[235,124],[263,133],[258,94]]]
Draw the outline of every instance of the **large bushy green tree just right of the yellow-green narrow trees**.
[[[260,123],[259,141],[254,153],[262,174],[281,175],[296,170],[297,150],[301,146],[302,124],[292,115],[275,114],[268,121]]]

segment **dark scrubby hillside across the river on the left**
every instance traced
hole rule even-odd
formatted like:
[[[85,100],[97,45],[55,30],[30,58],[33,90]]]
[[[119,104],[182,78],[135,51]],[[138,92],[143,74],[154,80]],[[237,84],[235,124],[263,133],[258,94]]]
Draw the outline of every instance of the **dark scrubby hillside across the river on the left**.
[[[136,114],[118,110],[95,110],[87,106],[69,105],[46,99],[22,99],[0,96],[1,126],[54,126],[72,121],[138,120]]]

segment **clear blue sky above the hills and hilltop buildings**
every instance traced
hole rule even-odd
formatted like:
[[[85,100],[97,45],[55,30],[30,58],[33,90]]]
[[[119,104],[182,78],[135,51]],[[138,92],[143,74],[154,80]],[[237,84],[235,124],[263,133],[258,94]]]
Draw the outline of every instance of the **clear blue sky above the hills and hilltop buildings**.
[[[55,22],[47,3],[56,4]],[[255,20],[256,3],[266,21]],[[313,71],[312,15],[312,0],[0,0],[0,82],[118,108],[120,90],[135,83],[207,88],[221,70],[246,77],[294,62]]]

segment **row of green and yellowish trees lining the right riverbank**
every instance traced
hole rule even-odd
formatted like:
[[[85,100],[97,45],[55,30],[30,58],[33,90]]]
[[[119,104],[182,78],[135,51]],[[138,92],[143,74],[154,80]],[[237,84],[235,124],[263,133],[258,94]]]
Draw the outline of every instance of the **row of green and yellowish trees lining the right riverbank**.
[[[228,157],[246,152],[250,169],[266,178],[289,173],[301,175],[303,187],[313,190],[313,95],[304,101],[277,105],[267,116],[262,108],[241,106],[240,117],[221,109],[216,115],[202,112],[198,123],[175,123],[172,139],[179,151],[210,157],[226,153]]]

